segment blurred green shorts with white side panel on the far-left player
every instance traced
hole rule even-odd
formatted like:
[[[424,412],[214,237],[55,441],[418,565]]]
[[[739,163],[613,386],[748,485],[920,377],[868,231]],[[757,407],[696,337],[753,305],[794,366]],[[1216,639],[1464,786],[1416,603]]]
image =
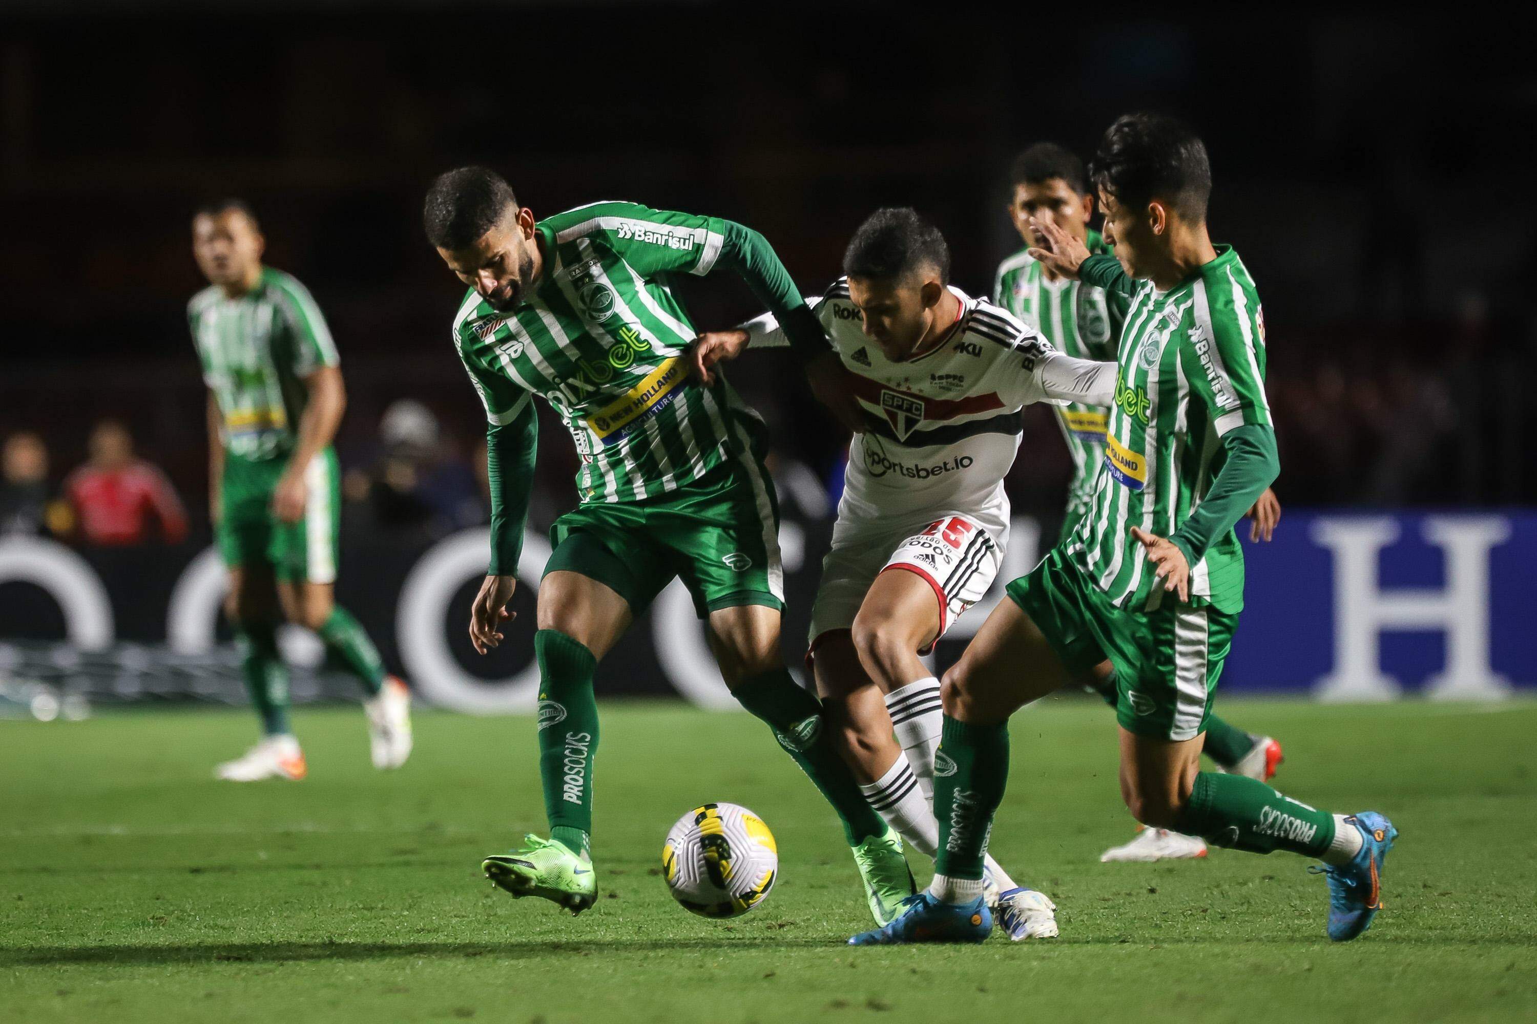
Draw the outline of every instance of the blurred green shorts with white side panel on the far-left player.
[[[309,462],[304,482],[309,497],[298,522],[278,522],[272,514],[287,459],[251,461],[224,454],[223,514],[218,519],[218,550],[224,565],[267,562],[278,579],[335,583],[337,539],[341,531],[341,474],[337,453],[326,448]]]

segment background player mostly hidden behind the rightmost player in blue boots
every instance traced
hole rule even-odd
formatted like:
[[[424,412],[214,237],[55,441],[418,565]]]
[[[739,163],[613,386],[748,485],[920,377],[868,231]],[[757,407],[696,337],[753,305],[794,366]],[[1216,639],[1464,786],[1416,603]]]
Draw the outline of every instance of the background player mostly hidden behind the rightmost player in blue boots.
[[[1094,215],[1094,197],[1084,161],[1056,143],[1036,143],[1014,160],[1010,180],[1013,193],[1008,216],[1025,241],[1025,249],[999,264],[993,301],[1037,327],[1047,341],[1070,356],[1114,359],[1128,296],[1057,275],[1047,263],[1030,255],[1031,247],[1042,244],[1031,224],[1051,224],[1090,253],[1110,252],[1099,232],[1088,226]],[[1065,540],[1077,530],[1094,497],[1094,481],[1105,461],[1107,410],[1071,402],[1057,405],[1053,411],[1073,459],[1061,533]],[[1270,540],[1280,517],[1276,493],[1266,488],[1250,516],[1254,520],[1250,539]],[[1085,676],[1084,686],[1111,708],[1116,706],[1116,676],[1110,662],[1094,666]],[[1222,771],[1260,781],[1271,778],[1282,760],[1280,743],[1268,735],[1245,732],[1214,714],[1207,720],[1205,754]],[[1205,855],[1207,843],[1200,837],[1170,829],[1142,829],[1130,843],[1105,851],[1100,860],[1156,861]]]

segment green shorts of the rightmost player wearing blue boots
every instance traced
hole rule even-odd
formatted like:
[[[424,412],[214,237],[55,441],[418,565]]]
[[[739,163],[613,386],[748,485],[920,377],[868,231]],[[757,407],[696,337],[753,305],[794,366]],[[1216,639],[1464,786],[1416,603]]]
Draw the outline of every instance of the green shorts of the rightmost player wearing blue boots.
[[[1007,590],[1070,672],[1110,659],[1116,720],[1124,729],[1164,740],[1205,732],[1236,614],[1183,605],[1173,596],[1156,611],[1117,608],[1062,547]]]

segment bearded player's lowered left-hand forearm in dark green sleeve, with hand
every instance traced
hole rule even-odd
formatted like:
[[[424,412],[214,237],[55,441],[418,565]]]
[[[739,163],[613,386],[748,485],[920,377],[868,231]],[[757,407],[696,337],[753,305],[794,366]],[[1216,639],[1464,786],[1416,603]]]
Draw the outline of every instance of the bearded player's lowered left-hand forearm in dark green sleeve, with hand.
[[[470,643],[486,654],[501,643],[501,626],[516,613],[507,602],[518,586],[523,527],[533,494],[533,462],[539,447],[539,418],[524,399],[506,424],[486,428],[486,481],[490,485],[490,567],[470,605]]]

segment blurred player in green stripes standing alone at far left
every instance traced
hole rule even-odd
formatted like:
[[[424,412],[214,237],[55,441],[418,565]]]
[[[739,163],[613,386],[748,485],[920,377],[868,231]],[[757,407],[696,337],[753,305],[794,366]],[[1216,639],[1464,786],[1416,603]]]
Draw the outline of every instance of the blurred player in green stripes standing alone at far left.
[[[289,728],[280,613],[320,634],[363,686],[375,768],[410,754],[410,697],[363,626],[335,602],[340,487],[330,441],[346,391],[326,318],[303,284],[261,264],[257,218],[226,200],[192,218],[209,286],[188,319],[207,384],[209,511],[229,568],[226,611],[263,738],[218,766],[234,781],[303,778]]]

